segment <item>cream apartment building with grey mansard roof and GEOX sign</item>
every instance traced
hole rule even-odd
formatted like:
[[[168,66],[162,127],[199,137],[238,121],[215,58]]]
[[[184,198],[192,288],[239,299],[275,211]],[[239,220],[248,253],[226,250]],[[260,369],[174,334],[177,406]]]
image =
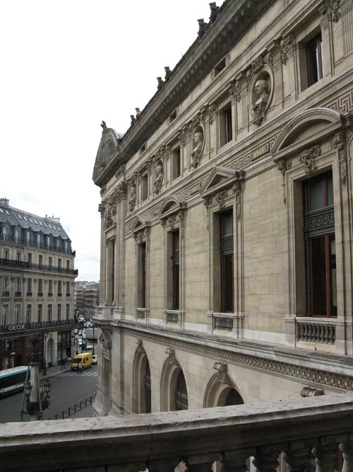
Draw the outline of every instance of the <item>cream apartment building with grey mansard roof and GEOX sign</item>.
[[[0,199],[0,369],[27,365],[34,336],[46,367],[71,355],[74,261],[59,218],[39,217]]]

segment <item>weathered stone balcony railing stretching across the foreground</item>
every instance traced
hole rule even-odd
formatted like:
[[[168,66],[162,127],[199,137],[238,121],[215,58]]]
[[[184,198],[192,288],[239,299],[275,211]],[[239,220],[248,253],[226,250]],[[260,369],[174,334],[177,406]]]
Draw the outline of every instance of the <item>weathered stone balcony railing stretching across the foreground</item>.
[[[143,415],[0,425],[6,472],[352,471],[353,393]]]

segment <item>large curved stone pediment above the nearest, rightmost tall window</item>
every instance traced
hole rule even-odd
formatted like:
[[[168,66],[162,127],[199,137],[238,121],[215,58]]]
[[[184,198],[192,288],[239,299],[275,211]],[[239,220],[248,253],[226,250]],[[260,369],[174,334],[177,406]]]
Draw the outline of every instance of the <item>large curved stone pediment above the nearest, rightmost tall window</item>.
[[[275,162],[330,137],[344,125],[344,116],[330,108],[311,108],[287,123],[277,137],[271,154]]]

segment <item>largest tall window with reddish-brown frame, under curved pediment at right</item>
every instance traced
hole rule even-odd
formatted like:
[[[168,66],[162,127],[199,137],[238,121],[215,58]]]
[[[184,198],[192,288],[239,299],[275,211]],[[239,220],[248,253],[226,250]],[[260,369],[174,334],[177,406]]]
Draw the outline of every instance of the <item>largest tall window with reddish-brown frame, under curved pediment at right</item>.
[[[304,182],[306,311],[337,316],[335,212],[332,173]]]

